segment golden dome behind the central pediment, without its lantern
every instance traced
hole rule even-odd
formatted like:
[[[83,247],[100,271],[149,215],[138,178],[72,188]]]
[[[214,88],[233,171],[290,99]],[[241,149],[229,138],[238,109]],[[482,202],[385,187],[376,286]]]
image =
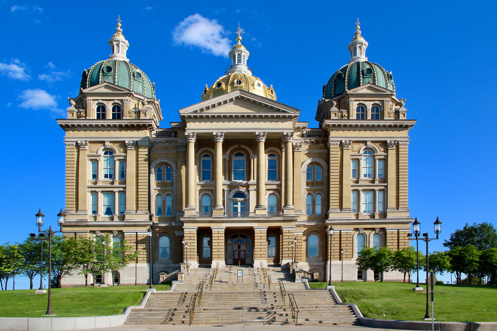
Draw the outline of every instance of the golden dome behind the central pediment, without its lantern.
[[[204,88],[201,100],[215,98],[217,96],[230,93],[234,90],[242,89],[253,94],[263,96],[264,98],[276,100],[276,93],[271,87],[267,87],[258,77],[247,75],[245,73],[232,73],[220,77],[211,87]]]

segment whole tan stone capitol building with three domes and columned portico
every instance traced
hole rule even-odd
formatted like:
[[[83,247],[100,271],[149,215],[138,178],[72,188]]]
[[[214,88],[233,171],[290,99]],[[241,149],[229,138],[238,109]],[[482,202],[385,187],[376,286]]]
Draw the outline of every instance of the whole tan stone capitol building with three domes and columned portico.
[[[110,234],[139,251],[105,274],[123,285],[150,283],[151,263],[154,284],[185,264],[298,267],[332,281],[343,266],[347,281],[402,280],[398,271],[374,275],[355,265],[364,247],[409,246],[416,121],[407,119],[392,72],[368,61],[357,24],[350,58],[329,73],[319,126],[310,128],[252,75],[237,32],[226,72],[191,86],[199,102],[161,128],[168,121],[160,96],[128,60],[118,23],[112,54],[83,70],[67,119],[57,120],[66,145],[64,235]],[[84,286],[84,276],[64,277],[62,286]]]

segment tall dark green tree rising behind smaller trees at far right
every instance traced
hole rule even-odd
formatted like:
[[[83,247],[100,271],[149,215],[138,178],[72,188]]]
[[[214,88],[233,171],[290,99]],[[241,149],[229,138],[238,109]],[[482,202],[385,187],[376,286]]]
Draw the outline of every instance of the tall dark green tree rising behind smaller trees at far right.
[[[497,248],[497,230],[493,224],[487,222],[473,225],[464,225],[460,230],[457,229],[450,235],[449,240],[444,240],[443,246],[451,249],[452,247],[464,247],[473,245],[479,251],[484,251],[488,248]]]

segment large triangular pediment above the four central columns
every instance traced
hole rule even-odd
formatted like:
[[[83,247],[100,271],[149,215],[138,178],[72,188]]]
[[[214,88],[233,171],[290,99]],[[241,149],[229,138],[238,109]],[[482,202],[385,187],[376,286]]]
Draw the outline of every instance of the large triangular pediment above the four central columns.
[[[179,110],[180,115],[205,114],[205,115],[293,115],[298,116],[300,110],[262,96],[236,90],[213,99]]]

